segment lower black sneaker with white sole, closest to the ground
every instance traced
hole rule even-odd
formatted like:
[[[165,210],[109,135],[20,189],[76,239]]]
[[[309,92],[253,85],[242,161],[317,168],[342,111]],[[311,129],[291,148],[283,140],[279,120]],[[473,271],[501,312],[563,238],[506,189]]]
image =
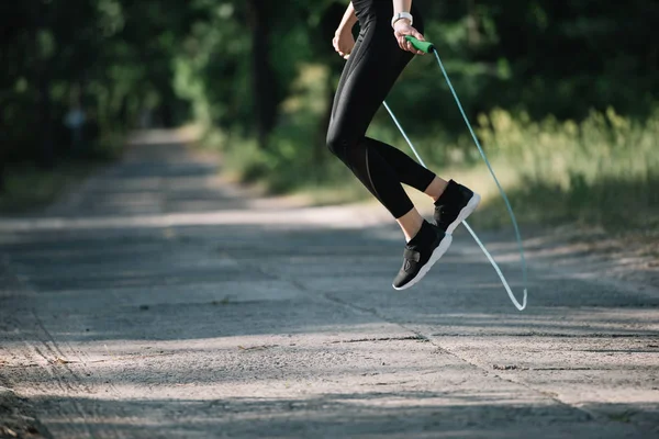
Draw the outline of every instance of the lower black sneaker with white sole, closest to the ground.
[[[423,279],[431,268],[448,250],[453,236],[424,221],[421,230],[407,245],[403,267],[393,280],[394,290],[405,290]]]

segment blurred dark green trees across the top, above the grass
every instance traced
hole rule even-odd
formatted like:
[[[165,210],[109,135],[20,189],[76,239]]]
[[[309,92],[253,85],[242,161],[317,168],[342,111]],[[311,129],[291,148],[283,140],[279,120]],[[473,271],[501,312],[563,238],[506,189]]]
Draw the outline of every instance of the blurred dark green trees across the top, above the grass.
[[[656,106],[657,2],[414,1],[472,117],[501,106],[534,119],[579,120],[613,105],[643,119]],[[112,136],[136,126],[145,112],[163,126],[194,119],[253,136],[266,154],[271,134],[286,122],[281,104],[310,65],[330,71],[314,140],[320,151],[344,63],[331,40],[346,4],[2,2],[0,177],[8,161],[49,167],[59,157],[107,155]],[[402,82],[390,99],[411,131],[422,130],[417,115],[427,113],[437,130],[461,128],[457,112],[436,111],[446,86],[432,64],[413,63],[405,78],[414,80]],[[75,105],[87,114],[91,146],[83,150],[68,146],[63,122]]]

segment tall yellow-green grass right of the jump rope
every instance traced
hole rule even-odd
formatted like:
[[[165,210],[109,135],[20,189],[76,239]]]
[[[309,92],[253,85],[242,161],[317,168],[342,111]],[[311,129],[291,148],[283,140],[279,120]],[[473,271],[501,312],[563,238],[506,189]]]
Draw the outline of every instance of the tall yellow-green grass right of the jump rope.
[[[610,109],[577,124],[499,110],[479,125],[522,223],[659,230],[659,112],[640,123]],[[507,223],[498,193],[487,195],[481,222]]]

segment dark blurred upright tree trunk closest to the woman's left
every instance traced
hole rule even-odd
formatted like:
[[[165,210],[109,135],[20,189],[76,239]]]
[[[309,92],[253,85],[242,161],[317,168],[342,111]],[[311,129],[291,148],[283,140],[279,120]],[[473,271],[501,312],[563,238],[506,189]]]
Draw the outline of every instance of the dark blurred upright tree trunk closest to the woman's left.
[[[252,80],[258,144],[265,149],[268,136],[277,119],[277,99],[275,87],[277,77],[270,63],[268,38],[270,37],[269,0],[249,0],[248,21],[252,29]]]

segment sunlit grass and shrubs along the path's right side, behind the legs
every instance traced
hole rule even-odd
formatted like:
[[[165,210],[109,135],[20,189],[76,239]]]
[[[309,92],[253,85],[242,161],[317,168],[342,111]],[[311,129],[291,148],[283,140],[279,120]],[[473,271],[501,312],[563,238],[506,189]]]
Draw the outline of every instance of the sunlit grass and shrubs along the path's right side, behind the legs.
[[[226,134],[215,142],[224,145],[226,168],[271,193],[302,193],[313,204],[371,199],[330,155],[320,135],[327,71],[313,66],[303,71],[294,85],[298,92],[282,104],[267,150]],[[551,116],[533,121],[504,110],[472,122],[521,224],[659,233],[659,109],[645,121],[610,109],[580,122]],[[467,130],[455,138],[438,128],[426,126],[420,132],[410,125],[407,134],[431,169],[483,195],[474,224],[510,226],[505,205]],[[384,111],[368,135],[411,154]]]

